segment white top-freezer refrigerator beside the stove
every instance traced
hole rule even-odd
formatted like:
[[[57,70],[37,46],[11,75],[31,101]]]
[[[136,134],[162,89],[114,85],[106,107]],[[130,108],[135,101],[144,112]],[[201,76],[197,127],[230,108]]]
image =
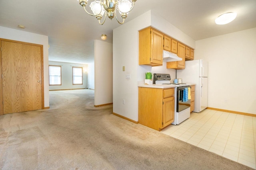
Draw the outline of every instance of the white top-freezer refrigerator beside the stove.
[[[195,109],[199,113],[208,106],[208,63],[202,59],[185,62],[185,69],[177,70],[177,77],[182,83],[195,86]],[[191,110],[193,111],[193,110]]]

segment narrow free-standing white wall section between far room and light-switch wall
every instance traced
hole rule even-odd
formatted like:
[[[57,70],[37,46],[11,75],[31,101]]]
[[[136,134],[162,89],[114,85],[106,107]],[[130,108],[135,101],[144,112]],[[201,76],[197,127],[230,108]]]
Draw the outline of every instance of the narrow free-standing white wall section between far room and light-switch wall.
[[[113,102],[113,45],[94,40],[94,105]]]

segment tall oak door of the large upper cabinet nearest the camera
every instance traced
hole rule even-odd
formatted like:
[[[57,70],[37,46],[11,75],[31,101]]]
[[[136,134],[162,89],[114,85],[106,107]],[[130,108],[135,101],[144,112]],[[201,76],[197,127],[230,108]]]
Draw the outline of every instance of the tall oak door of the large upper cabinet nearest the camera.
[[[151,59],[150,63],[163,64],[164,35],[151,29]]]

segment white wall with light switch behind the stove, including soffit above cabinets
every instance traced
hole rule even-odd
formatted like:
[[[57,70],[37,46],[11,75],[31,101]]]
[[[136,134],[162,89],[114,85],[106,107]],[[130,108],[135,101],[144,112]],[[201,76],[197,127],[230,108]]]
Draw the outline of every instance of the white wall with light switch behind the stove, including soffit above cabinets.
[[[171,37],[184,40],[190,47],[195,44],[190,37],[151,10],[113,30],[113,112],[134,121],[138,121],[138,81],[144,81],[145,72],[169,73],[172,78],[176,76],[174,69],[166,69],[166,63],[155,67],[138,65],[138,30],[150,25],[166,31]],[[179,35],[172,32],[179,32]],[[122,66],[126,68],[124,72]],[[130,80],[125,79],[126,74],[131,75]],[[123,100],[125,104],[122,104]]]

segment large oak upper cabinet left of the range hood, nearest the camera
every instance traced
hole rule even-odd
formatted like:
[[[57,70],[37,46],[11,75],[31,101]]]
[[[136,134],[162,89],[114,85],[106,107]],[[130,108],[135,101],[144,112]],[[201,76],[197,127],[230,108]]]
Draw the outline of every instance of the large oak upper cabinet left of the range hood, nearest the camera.
[[[163,65],[164,34],[151,27],[139,31],[139,65]]]

